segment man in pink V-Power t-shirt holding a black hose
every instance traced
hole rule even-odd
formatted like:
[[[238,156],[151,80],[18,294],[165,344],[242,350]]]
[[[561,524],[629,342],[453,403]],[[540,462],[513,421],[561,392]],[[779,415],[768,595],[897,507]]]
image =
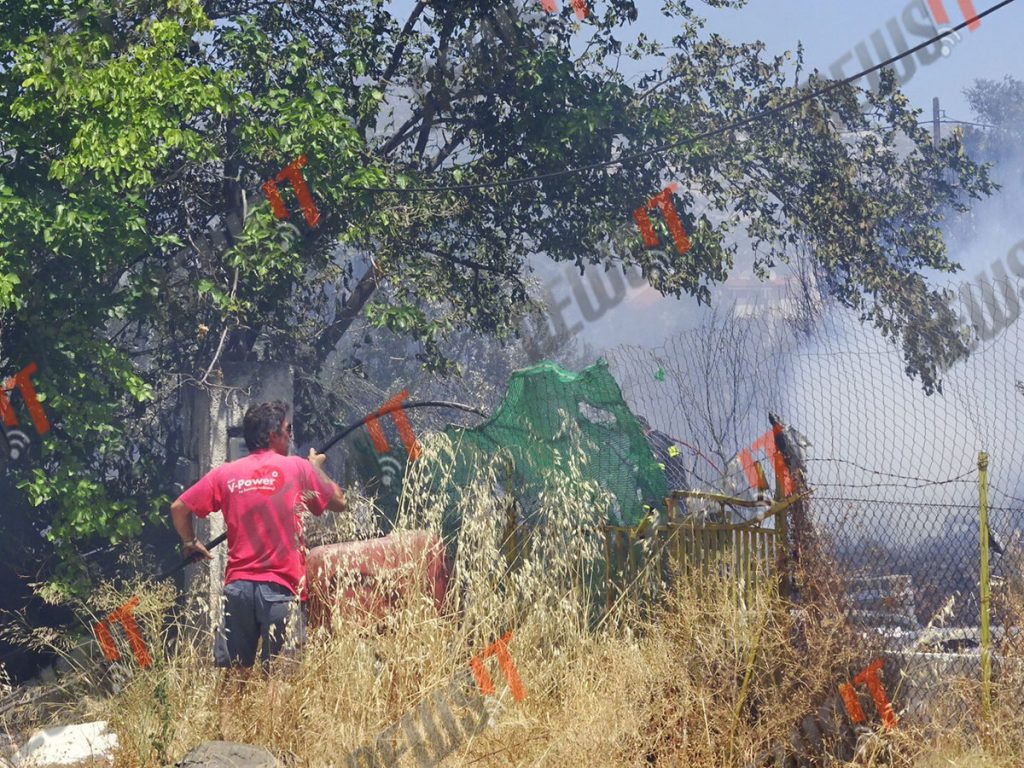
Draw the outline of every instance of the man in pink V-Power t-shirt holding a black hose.
[[[290,640],[305,631],[306,550],[302,513],[341,512],[345,500],[325,473],[327,457],[289,456],[292,425],[282,400],[250,406],[243,422],[249,456],[208,472],[171,505],[174,529],[186,558],[210,559],[196,537],[191,516],[220,510],[227,527],[224,625],[214,641],[217,667],[251,668],[262,639],[266,669]]]

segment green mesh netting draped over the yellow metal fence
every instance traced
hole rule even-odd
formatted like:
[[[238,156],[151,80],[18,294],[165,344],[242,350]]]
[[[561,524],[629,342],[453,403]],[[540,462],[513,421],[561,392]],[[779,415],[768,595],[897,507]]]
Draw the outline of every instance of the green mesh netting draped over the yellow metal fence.
[[[579,428],[575,436],[569,424]],[[457,446],[456,482],[468,480],[474,463],[499,452],[511,459],[507,488],[527,519],[539,506],[543,472],[555,466],[556,453],[565,456],[581,444],[587,453],[585,479],[612,497],[609,522],[638,524],[644,505],[657,508],[666,496],[665,471],[603,359],[579,374],[553,362],[517,371],[493,417],[472,428],[447,427],[445,433]],[[449,529],[458,524],[446,522]]]

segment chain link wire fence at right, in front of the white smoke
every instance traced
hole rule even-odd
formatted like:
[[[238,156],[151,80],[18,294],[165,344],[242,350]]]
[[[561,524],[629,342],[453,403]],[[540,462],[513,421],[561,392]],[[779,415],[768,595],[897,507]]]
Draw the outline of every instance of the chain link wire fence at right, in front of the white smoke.
[[[987,296],[1019,288],[996,286]],[[794,428],[812,490],[808,521],[842,585],[850,625],[904,668],[924,659],[929,679],[979,680],[980,452],[990,457],[996,662],[1024,587],[1016,439],[1024,331],[1015,323],[1019,303],[1006,305],[989,302],[984,341],[933,394],[907,377],[899,349],[848,312],[809,324],[783,312],[718,310],[663,348],[624,346],[607,357],[630,407],[674,441],[687,485],[674,489],[753,498],[744,453],[770,477],[768,415]],[[962,309],[975,326],[983,319],[977,304]]]

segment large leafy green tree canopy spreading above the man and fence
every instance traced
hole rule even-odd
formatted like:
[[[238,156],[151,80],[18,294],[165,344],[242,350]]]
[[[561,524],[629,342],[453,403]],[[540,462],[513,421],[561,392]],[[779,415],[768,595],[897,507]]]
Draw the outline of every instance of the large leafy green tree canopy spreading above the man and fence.
[[[759,272],[804,244],[822,289],[936,386],[932,359],[958,342],[915,333],[954,323],[916,270],[950,268],[940,210],[989,185],[958,138],[931,147],[891,73],[867,115],[849,85],[772,112],[826,81],[799,54],[791,68],[701,37],[683,0],[665,4],[679,28],[666,49],[625,38],[632,0],[593,3],[582,25],[567,4],[524,2],[417,2],[404,18],[380,0],[0,6],[0,348],[39,366],[53,429],[20,487],[65,562],[156,514],[183,384],[210,385],[222,360],[289,360],[299,410],[329,413],[317,377],[360,314],[449,370],[457,330],[511,333],[531,253],[635,264],[707,300],[737,226]],[[622,55],[656,66],[630,84]],[[319,219],[280,182],[299,236],[283,252],[254,201],[299,156]],[[692,247],[645,250],[631,214],[676,180]],[[714,224],[697,201],[731,215]],[[222,246],[204,240],[210,221]]]

